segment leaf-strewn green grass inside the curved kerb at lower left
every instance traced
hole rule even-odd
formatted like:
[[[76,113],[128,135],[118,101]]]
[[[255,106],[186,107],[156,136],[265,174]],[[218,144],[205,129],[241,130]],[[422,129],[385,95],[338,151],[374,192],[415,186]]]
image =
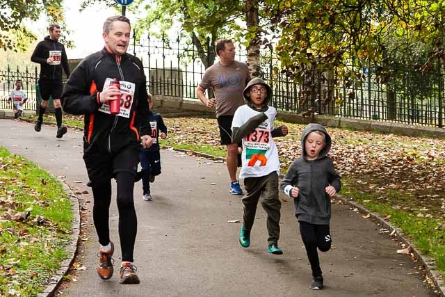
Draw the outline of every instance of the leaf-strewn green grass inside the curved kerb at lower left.
[[[36,296],[67,257],[71,203],[60,182],[4,147],[0,166],[0,296]],[[26,220],[5,216],[24,211]]]

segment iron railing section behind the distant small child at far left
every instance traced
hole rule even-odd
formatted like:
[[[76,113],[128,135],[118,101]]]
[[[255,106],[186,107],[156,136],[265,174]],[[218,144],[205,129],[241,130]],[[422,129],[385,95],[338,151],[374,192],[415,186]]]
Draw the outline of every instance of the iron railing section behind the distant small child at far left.
[[[15,81],[17,79],[22,79],[23,89],[26,92],[26,97],[28,100],[24,104],[25,111],[35,111],[37,96],[35,88],[37,86],[38,72],[37,67],[33,69],[20,70],[11,69],[8,65],[6,69],[0,69],[0,109],[13,109],[13,104],[8,104],[8,97],[11,90],[15,88]]]

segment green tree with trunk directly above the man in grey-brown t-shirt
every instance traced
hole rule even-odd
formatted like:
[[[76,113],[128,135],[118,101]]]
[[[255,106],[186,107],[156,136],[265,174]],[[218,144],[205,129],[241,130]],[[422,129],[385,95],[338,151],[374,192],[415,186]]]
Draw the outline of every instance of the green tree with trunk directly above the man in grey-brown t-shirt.
[[[113,2],[86,0],[83,7],[94,3],[115,6]],[[261,75],[258,6],[257,0],[136,0],[128,6],[128,10],[132,13],[146,12],[145,17],[139,19],[134,26],[138,36],[146,32],[156,35],[152,28],[165,32],[175,24],[180,24],[181,42],[193,44],[206,68],[215,62],[216,40],[231,38],[236,42],[243,42],[248,51],[250,72],[252,76],[257,77]]]

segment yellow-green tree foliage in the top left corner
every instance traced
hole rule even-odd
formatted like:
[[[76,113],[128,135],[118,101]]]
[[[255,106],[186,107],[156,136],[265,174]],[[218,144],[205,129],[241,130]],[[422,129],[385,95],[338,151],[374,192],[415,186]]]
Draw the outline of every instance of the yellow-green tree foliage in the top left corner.
[[[25,51],[36,39],[24,25],[24,19],[37,21],[46,15],[49,24],[64,25],[63,0],[0,1],[0,4],[0,49],[5,51]]]

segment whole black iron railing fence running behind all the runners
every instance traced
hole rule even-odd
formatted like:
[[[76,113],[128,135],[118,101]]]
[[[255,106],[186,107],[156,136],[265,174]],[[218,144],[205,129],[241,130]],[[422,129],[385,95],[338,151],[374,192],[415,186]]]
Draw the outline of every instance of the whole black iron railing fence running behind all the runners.
[[[204,45],[209,53],[210,42]],[[205,72],[200,53],[181,38],[133,40],[129,52],[144,63],[147,86],[154,95],[196,99],[195,90]],[[237,60],[245,61],[245,49],[238,49]],[[349,67],[360,79],[339,83],[337,70],[314,74],[314,92],[302,90],[286,74],[273,53],[261,51],[264,79],[273,88],[273,106],[281,111],[312,115],[314,113],[345,118],[401,122],[409,125],[444,127],[445,72],[439,62],[421,73],[411,68],[391,70],[390,79],[373,67]],[[207,64],[210,61],[206,61]],[[279,71],[274,71],[277,67]],[[389,73],[389,72],[388,72]],[[16,79],[22,79],[29,97],[25,110],[36,110],[37,67],[22,71],[6,67],[0,70],[0,109],[12,109],[7,99]],[[210,94],[211,95],[211,94]]]

